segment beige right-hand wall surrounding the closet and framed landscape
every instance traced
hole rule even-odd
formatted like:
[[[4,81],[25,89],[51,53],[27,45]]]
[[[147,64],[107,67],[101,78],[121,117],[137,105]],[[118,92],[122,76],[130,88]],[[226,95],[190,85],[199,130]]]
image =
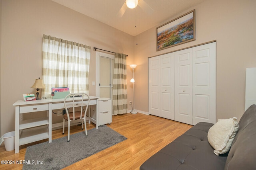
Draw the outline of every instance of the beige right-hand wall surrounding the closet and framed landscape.
[[[170,20],[193,9],[196,9],[195,41],[156,51],[155,27],[135,37],[138,40],[134,51],[134,63],[138,64],[134,70],[136,109],[148,112],[148,57],[216,40],[217,119],[234,116],[240,119],[244,113],[246,68],[256,67],[256,1],[207,0]]]

